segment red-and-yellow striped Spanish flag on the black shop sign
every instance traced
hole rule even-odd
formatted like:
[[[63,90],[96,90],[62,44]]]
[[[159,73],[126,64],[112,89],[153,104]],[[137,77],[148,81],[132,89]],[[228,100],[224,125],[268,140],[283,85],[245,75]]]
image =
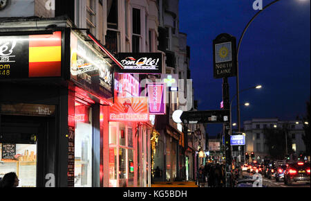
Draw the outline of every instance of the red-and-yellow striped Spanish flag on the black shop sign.
[[[29,78],[61,76],[62,32],[29,36]]]

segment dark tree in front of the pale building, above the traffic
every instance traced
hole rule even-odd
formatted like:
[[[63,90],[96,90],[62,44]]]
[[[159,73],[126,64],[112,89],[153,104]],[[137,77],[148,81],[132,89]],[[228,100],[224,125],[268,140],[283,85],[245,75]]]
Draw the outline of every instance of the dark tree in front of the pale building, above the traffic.
[[[288,136],[288,124],[284,123],[283,128],[265,128],[263,134],[265,135],[265,143],[268,147],[268,152],[272,159],[284,159],[286,154],[293,152],[292,139]],[[286,140],[287,139],[287,153]]]

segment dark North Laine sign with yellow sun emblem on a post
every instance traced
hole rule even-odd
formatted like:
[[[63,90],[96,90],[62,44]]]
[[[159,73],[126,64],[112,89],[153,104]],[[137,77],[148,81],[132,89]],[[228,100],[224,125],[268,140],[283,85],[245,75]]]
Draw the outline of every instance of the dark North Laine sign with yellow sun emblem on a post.
[[[213,41],[214,78],[236,76],[236,38],[222,33]]]

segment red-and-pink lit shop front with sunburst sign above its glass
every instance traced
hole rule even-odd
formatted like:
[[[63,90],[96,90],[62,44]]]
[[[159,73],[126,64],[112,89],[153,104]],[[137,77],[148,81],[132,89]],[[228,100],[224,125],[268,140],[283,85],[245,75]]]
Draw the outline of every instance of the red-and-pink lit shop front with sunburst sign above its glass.
[[[109,107],[109,186],[151,184],[152,125],[147,97],[129,73],[115,74],[115,105]]]

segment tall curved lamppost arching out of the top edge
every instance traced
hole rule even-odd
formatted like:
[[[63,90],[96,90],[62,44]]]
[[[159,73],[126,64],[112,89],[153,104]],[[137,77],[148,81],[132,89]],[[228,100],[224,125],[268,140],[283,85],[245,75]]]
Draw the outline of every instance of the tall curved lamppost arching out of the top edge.
[[[272,4],[276,3],[277,1],[280,0],[275,0],[272,1],[271,3],[267,4],[267,6],[263,7],[263,10],[265,10],[266,8],[268,8],[269,6],[271,6]],[[257,17],[259,15],[259,13],[263,12],[263,10],[259,10],[256,15],[254,15],[254,17],[252,17],[252,19],[249,20],[249,22],[247,23],[247,25],[245,26],[243,33],[240,37],[240,40],[238,41],[238,49],[236,51],[236,96],[237,96],[237,114],[238,114],[238,132],[241,132],[241,112],[240,112],[240,87],[239,87],[239,78],[238,78],[238,51],[240,50],[240,46],[241,46],[241,42],[242,39],[244,37],[244,34],[247,30],[247,28],[249,27],[249,25],[252,23],[252,21],[254,21],[255,17]]]

